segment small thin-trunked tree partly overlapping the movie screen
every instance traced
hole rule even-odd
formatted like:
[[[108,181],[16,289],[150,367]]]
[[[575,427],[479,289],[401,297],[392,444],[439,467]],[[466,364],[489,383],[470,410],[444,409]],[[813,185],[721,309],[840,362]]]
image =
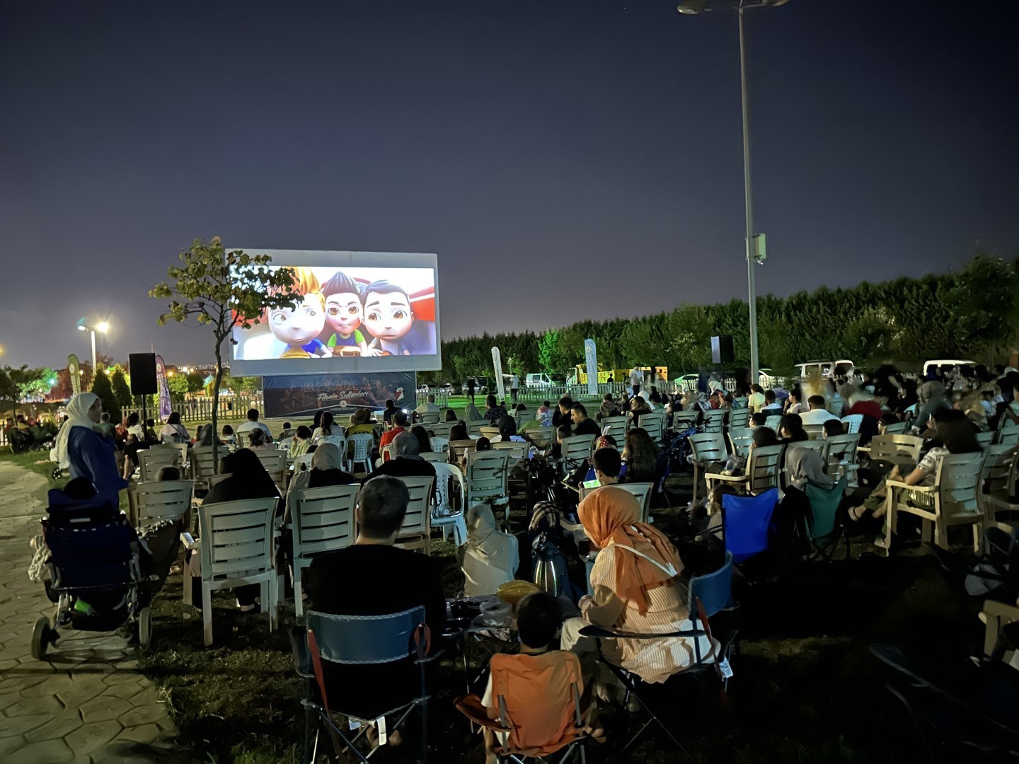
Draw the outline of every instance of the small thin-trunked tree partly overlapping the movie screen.
[[[272,258],[268,255],[227,252],[219,236],[213,236],[208,243],[195,239],[190,249],[181,250],[179,260],[180,265],[168,268],[167,280],[150,289],[149,296],[170,301],[168,310],[159,317],[160,326],[195,318],[212,328],[216,358],[212,430],[216,433],[224,371],[223,342],[233,341],[234,327],[250,329],[261,322],[264,311],[293,306],[302,296],[293,291],[292,269],[270,267]],[[215,449],[216,439],[212,442]],[[213,462],[218,463],[215,450]]]

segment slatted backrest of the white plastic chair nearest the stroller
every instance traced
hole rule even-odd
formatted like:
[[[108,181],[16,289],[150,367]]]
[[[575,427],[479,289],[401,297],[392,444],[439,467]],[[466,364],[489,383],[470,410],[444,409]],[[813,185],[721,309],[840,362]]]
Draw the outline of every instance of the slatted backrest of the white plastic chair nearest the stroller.
[[[273,570],[277,499],[204,503],[199,507],[202,579],[223,581]]]

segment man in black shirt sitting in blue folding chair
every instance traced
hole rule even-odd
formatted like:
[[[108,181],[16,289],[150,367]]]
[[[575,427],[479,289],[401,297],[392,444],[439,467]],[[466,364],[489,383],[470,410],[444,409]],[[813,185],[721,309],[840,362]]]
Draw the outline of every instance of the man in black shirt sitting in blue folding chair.
[[[411,436],[413,437],[413,436]],[[435,561],[393,546],[410,494],[395,478],[374,478],[358,495],[358,539],[352,546],[316,555],[307,572],[311,610],[346,615],[388,615],[423,605],[438,649],[445,625],[442,579]],[[373,718],[421,692],[414,661],[341,665],[322,661],[329,706]]]

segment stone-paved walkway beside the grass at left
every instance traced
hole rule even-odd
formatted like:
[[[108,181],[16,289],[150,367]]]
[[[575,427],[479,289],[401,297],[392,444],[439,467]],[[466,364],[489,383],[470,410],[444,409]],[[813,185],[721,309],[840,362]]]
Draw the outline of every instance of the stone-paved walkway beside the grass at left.
[[[54,611],[26,575],[46,489],[45,478],[0,462],[0,762],[190,762],[122,637],[62,630],[52,660],[32,657],[36,620]]]

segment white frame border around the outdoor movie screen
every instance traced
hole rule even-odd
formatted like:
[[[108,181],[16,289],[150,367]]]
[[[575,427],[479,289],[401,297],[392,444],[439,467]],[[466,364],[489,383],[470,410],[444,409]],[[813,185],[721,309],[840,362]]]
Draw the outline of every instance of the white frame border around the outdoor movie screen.
[[[435,353],[431,356],[379,356],[343,359],[235,358],[230,342],[230,374],[234,377],[276,377],[302,374],[358,374],[380,372],[430,372],[442,369],[442,332],[439,323],[438,256],[426,253],[352,252],[339,250],[261,250],[238,248],[250,255],[268,255],[271,267],[313,268],[421,268],[432,271],[435,284]],[[237,329],[234,329],[237,331]]]

